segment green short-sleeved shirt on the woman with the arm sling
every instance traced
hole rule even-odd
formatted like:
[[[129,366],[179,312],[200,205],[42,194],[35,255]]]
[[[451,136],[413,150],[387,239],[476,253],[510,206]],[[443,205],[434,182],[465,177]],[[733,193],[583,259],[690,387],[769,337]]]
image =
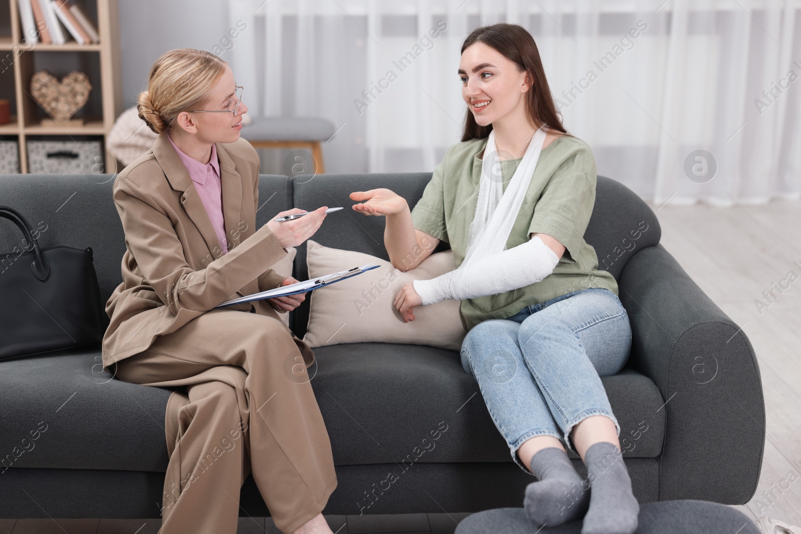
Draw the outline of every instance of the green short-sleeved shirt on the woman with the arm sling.
[[[414,227],[449,243],[457,267],[465,259],[468,230],[476,213],[486,144],[486,138],[471,139],[449,147],[412,210]],[[501,162],[504,191],[520,162]],[[581,139],[562,135],[542,149],[506,248],[541,232],[556,238],[566,251],[541,282],[462,300],[461,314],[468,328],[486,319],[506,319],[523,307],[587,287],[606,287],[618,295],[618,283],[608,271],[598,269],[595,249],[584,240],[595,204],[595,183],[595,158]]]

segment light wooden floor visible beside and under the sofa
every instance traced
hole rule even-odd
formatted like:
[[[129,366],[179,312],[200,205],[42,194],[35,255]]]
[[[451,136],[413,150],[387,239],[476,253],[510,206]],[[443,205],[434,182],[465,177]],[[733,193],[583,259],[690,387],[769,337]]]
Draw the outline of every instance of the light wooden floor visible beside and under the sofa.
[[[777,201],[735,208],[668,203],[651,208],[662,225],[664,247],[706,295],[743,327],[759,360],[767,411],[762,475],[754,498],[734,508],[754,520],[768,516],[801,527],[801,279],[761,315],[754,303],[787,271],[801,275],[801,268],[792,264],[801,265],[801,203]],[[795,476],[788,477],[791,472]],[[768,499],[763,492],[770,490],[775,497]],[[328,522],[338,534],[450,534],[466,515],[331,516]],[[159,529],[157,520],[57,521],[0,520],[0,534],[155,534]],[[264,528],[279,532],[269,519],[239,521],[240,533],[264,532]]]

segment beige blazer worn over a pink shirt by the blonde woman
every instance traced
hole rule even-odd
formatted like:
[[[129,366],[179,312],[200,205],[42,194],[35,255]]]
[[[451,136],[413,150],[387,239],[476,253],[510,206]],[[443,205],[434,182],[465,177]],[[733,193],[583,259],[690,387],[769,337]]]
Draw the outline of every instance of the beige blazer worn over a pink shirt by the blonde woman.
[[[215,144],[228,241],[224,255],[206,207],[167,135],[159,135],[153,147],[115,179],[114,203],[127,250],[123,282],[106,304],[111,324],[103,335],[104,369],[147,350],[157,335],[178,330],[219,303],[271,289],[284,278],[269,267],[287,251],[267,225],[256,228],[256,150],[244,139]],[[312,365],[312,350],[266,300],[224,309],[247,313],[252,307],[276,318],[270,327],[277,335],[292,335],[306,366]],[[220,351],[226,349],[225,335],[219,333]]]

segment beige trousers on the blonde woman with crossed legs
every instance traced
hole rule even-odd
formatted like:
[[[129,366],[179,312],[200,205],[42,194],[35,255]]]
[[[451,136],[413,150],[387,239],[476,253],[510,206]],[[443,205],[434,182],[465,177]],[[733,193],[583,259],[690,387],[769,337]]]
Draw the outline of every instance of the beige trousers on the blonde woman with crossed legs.
[[[216,309],[117,363],[126,382],[187,386],[167,403],[159,534],[234,534],[250,472],[282,532],[322,512],[336,473],[303,361],[280,319]]]

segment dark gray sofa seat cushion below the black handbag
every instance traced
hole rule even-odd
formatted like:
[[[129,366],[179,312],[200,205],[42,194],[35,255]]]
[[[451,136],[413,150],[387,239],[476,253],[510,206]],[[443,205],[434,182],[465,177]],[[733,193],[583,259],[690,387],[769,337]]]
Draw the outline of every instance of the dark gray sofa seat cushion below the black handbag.
[[[170,393],[112,379],[100,347],[3,360],[2,468],[164,472]],[[34,440],[37,429],[43,432]]]

